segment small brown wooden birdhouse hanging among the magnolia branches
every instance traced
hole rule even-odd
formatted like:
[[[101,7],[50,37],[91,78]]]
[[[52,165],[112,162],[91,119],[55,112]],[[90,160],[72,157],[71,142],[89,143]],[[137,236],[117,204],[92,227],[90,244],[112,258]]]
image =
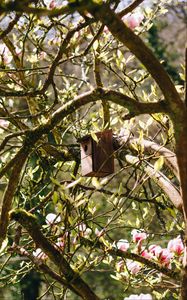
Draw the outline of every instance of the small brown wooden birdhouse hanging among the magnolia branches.
[[[104,177],[114,173],[112,130],[80,140],[82,176]]]

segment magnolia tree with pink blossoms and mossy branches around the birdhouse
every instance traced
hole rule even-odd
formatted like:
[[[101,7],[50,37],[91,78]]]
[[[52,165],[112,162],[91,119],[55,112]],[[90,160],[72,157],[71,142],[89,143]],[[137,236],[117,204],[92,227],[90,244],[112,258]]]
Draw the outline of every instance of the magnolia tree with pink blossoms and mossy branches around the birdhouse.
[[[1,284],[186,299],[186,99],[146,45],[171,1],[66,2],[0,4]],[[82,177],[79,139],[108,128],[115,173]]]

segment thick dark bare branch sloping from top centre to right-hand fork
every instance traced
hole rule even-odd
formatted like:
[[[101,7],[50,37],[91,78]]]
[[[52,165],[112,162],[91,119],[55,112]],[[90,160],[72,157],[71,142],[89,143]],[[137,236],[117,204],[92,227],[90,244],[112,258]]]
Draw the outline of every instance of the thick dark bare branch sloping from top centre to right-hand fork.
[[[163,66],[157,60],[153,52],[144,44],[142,39],[136,35],[124,22],[115,14],[107,4],[92,4],[88,6],[88,11],[106,25],[112,35],[121,43],[123,43],[146,67],[154,80],[160,87],[165,99],[168,102],[168,113],[171,117],[178,113],[181,115],[181,110],[184,109],[182,102],[173,82],[169,75],[164,70]]]

